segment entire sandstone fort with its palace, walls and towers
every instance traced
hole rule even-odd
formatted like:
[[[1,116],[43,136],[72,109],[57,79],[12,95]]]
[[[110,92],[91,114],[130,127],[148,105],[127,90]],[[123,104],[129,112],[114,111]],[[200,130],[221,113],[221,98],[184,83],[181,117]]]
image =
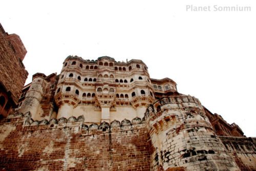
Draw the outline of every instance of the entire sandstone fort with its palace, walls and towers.
[[[1,36],[1,54],[10,52],[1,55],[2,170],[256,170],[256,138],[172,79],[150,78],[141,60],[68,56],[59,75],[36,73],[8,90],[19,68],[6,67],[22,63],[12,55],[24,45],[14,52]]]

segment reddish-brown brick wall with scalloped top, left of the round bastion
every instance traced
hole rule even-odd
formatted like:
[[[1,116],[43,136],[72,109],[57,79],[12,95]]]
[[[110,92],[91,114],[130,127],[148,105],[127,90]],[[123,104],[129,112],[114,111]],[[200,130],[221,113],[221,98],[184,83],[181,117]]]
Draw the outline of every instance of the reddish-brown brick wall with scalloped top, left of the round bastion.
[[[50,122],[9,115],[0,125],[2,170],[150,170],[144,123],[83,125],[82,117]]]

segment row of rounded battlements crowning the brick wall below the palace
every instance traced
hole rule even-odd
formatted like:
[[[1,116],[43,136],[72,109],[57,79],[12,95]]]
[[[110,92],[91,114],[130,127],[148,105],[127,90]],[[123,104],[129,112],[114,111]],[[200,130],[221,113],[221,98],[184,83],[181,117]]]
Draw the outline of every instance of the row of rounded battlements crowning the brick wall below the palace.
[[[44,130],[44,129],[72,129],[77,127],[83,131],[83,134],[91,133],[111,133],[117,131],[127,131],[138,129],[138,127],[144,128],[145,120],[144,118],[135,117],[132,121],[128,119],[123,119],[121,121],[114,120],[110,124],[106,122],[102,123],[84,123],[83,115],[78,116],[77,118],[71,116],[69,118],[61,117],[59,119],[52,118],[51,120],[42,119],[42,120],[33,120],[31,114],[28,113],[18,113],[10,114],[6,119],[1,120],[0,124],[5,123],[23,123],[24,130]],[[84,132],[87,131],[87,132]]]

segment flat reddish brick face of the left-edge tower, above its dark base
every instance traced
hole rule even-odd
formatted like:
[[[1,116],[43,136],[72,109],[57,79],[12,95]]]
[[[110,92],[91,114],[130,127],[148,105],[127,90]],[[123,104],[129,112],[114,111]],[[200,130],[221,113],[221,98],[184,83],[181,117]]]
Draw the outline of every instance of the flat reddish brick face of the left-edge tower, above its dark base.
[[[12,93],[13,102],[17,103],[28,72],[2,32],[0,32],[0,61],[0,81],[7,92]]]

